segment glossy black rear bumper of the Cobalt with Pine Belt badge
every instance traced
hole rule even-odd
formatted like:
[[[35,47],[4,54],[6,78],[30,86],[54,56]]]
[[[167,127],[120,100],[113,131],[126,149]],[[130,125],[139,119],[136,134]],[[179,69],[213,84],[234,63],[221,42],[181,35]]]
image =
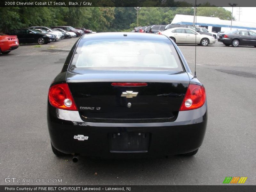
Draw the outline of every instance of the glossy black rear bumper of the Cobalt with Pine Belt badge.
[[[203,107],[179,112],[174,122],[166,123],[88,123],[77,111],[53,108],[48,102],[47,122],[52,145],[64,153],[104,158],[176,155],[202,145],[207,125],[207,103]],[[110,152],[113,133],[148,133],[147,152]],[[84,135],[88,140],[77,140]]]

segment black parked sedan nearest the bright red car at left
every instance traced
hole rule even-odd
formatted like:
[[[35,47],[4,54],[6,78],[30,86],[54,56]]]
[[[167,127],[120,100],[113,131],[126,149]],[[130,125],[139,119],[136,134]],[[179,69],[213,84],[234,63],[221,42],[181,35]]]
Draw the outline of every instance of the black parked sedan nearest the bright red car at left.
[[[10,35],[16,35],[20,43],[47,44],[54,41],[54,36],[48,33],[40,33],[34,29],[13,29]]]

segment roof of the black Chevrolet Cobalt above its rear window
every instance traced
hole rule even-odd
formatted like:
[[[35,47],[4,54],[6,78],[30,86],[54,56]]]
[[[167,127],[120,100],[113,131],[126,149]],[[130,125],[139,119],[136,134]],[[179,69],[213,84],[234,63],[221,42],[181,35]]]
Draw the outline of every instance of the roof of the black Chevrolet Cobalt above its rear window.
[[[124,36],[127,35],[127,36]],[[84,35],[82,39],[150,39],[150,40],[169,40],[164,35],[152,33],[133,33],[133,32],[101,32]]]

